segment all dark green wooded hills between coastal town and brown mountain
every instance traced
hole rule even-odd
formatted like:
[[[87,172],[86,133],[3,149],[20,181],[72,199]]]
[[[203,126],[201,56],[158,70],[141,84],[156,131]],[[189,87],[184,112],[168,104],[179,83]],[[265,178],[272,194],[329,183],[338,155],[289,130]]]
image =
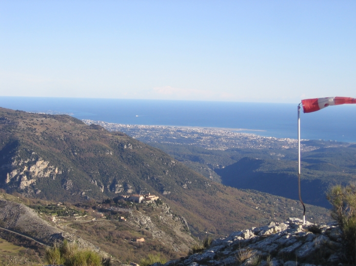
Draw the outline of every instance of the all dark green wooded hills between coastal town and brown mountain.
[[[198,173],[224,185],[298,199],[297,149],[230,148],[211,150],[188,144],[149,143]],[[356,180],[356,144],[302,141],[303,201],[330,208],[325,192]]]

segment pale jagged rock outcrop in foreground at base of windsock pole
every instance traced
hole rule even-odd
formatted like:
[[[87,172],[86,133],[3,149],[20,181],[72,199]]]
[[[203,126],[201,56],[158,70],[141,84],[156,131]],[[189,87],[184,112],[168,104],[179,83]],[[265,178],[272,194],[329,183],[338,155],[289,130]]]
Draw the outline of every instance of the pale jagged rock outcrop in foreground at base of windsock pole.
[[[202,253],[164,266],[342,265],[341,230],[336,223],[315,225],[298,218],[237,231],[214,240]],[[155,264],[154,266],[159,266]]]

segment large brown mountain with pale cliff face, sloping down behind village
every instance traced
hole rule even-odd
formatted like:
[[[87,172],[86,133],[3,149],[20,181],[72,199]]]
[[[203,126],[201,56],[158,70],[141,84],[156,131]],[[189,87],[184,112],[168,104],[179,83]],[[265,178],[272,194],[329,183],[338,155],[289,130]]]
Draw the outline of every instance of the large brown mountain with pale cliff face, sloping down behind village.
[[[300,213],[293,200],[215,183],[157,148],[68,115],[0,108],[0,158],[0,187],[8,193],[70,202],[156,194],[195,235]],[[326,219],[326,210],[309,210]]]

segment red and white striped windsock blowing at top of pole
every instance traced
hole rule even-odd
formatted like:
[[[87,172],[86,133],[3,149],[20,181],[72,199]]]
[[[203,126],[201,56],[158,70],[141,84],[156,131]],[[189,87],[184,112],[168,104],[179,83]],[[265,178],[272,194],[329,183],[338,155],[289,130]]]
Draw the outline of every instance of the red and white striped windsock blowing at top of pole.
[[[356,98],[351,97],[325,97],[301,100],[304,113],[318,111],[327,106],[337,106],[343,104],[356,104]]]

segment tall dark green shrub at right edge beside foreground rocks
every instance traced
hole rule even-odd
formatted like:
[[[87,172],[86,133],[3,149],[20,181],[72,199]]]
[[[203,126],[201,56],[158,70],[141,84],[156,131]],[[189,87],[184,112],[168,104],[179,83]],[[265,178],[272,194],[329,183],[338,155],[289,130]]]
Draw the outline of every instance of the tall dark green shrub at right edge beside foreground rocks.
[[[333,205],[331,216],[342,230],[345,253],[351,262],[356,262],[356,185],[346,187],[337,185],[327,194],[327,199]]]

